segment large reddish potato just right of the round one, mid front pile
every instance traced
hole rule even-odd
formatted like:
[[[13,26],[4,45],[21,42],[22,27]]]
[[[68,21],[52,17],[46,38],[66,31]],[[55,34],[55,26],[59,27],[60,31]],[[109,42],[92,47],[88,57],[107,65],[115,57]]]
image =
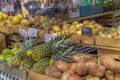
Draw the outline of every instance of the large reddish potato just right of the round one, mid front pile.
[[[105,67],[102,65],[99,65],[95,62],[89,62],[87,63],[88,66],[88,73],[92,76],[96,77],[103,77],[105,74]]]

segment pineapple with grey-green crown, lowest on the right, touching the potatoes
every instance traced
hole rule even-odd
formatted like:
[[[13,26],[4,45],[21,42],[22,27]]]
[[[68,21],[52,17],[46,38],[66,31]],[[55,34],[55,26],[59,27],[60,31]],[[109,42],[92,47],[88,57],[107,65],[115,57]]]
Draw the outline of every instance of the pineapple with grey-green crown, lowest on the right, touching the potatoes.
[[[65,60],[67,62],[72,62],[71,56],[75,53],[73,51],[74,47],[70,47],[63,50],[58,50],[58,53],[49,58],[43,58],[33,66],[33,71],[44,74],[45,69],[48,65],[52,65],[57,60]]]

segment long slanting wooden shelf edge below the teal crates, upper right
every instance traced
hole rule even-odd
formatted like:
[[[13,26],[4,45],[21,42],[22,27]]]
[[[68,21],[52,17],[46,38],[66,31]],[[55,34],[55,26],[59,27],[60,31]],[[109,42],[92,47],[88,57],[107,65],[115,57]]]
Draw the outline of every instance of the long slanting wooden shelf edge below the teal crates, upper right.
[[[85,19],[90,19],[90,18],[105,16],[105,15],[110,15],[110,14],[113,14],[113,13],[114,13],[114,11],[109,11],[109,12],[94,14],[94,15],[85,16],[85,17],[72,18],[72,19],[69,19],[68,22],[73,22],[75,20],[85,20]]]

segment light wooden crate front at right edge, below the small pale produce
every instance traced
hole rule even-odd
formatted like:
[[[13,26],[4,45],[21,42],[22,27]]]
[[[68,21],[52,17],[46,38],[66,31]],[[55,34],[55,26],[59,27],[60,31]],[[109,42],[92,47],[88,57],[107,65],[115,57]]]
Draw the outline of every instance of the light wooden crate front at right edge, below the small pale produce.
[[[95,43],[100,46],[120,48],[120,38],[103,38],[96,36]]]

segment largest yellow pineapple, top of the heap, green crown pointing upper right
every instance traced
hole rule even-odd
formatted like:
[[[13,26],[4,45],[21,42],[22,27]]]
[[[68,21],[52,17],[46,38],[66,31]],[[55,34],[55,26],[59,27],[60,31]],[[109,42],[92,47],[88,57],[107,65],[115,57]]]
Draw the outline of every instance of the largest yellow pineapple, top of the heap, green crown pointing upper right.
[[[69,37],[64,38],[63,36],[57,36],[49,43],[43,43],[33,47],[30,55],[32,59],[37,62],[44,57],[50,57],[56,52],[57,49],[66,47],[66,44],[69,42],[69,40]]]

